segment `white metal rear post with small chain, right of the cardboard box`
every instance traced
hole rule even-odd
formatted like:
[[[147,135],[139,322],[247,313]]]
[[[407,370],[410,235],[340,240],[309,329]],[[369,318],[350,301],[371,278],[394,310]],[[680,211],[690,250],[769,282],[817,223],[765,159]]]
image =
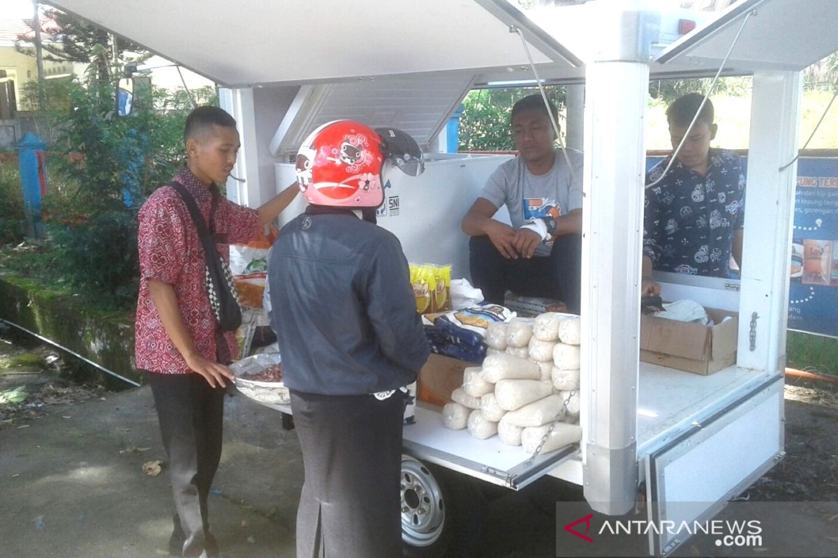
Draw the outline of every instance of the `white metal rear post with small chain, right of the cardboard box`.
[[[797,163],[779,168],[797,155],[801,87],[799,72],[753,74],[737,364],[769,375],[785,367]]]

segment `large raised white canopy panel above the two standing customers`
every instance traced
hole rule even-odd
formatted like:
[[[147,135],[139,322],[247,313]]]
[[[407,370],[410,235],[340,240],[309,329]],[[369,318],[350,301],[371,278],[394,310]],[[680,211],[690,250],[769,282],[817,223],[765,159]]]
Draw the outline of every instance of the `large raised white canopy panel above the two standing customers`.
[[[504,0],[51,0],[228,87],[580,64]]]

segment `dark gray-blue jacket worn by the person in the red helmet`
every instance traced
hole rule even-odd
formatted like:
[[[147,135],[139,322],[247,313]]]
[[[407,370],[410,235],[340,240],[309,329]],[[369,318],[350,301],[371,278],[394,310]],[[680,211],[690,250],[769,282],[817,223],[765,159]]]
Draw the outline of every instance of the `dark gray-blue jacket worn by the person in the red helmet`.
[[[406,386],[430,353],[395,235],[348,210],[309,207],[268,265],[287,387],[361,395]]]

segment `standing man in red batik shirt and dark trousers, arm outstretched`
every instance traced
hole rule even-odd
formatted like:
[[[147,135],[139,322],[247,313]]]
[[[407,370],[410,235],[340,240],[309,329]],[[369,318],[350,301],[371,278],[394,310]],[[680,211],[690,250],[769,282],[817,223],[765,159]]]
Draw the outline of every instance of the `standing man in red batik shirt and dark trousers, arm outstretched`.
[[[189,114],[184,141],[187,163],[174,182],[194,197],[229,261],[229,244],[247,243],[299,188],[292,184],[259,209],[221,196],[217,185],[230,176],[241,144],[235,120],[217,107]],[[136,366],[147,372],[170,463],[176,513],[169,550],[214,558],[218,544],[209,533],[207,496],[221,455],[225,387],[234,378],[226,365],[235,356],[235,332],[222,331],[215,320],[198,232],[173,187],[158,188],[142,205],[138,245]]]

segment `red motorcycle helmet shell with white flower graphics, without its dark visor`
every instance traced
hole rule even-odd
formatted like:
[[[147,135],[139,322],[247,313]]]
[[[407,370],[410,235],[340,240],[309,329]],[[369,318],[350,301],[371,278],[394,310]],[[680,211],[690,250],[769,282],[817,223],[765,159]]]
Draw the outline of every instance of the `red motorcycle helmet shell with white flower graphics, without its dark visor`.
[[[333,207],[379,207],[381,138],[354,120],[328,122],[308,135],[297,152],[297,183],[306,201]]]

